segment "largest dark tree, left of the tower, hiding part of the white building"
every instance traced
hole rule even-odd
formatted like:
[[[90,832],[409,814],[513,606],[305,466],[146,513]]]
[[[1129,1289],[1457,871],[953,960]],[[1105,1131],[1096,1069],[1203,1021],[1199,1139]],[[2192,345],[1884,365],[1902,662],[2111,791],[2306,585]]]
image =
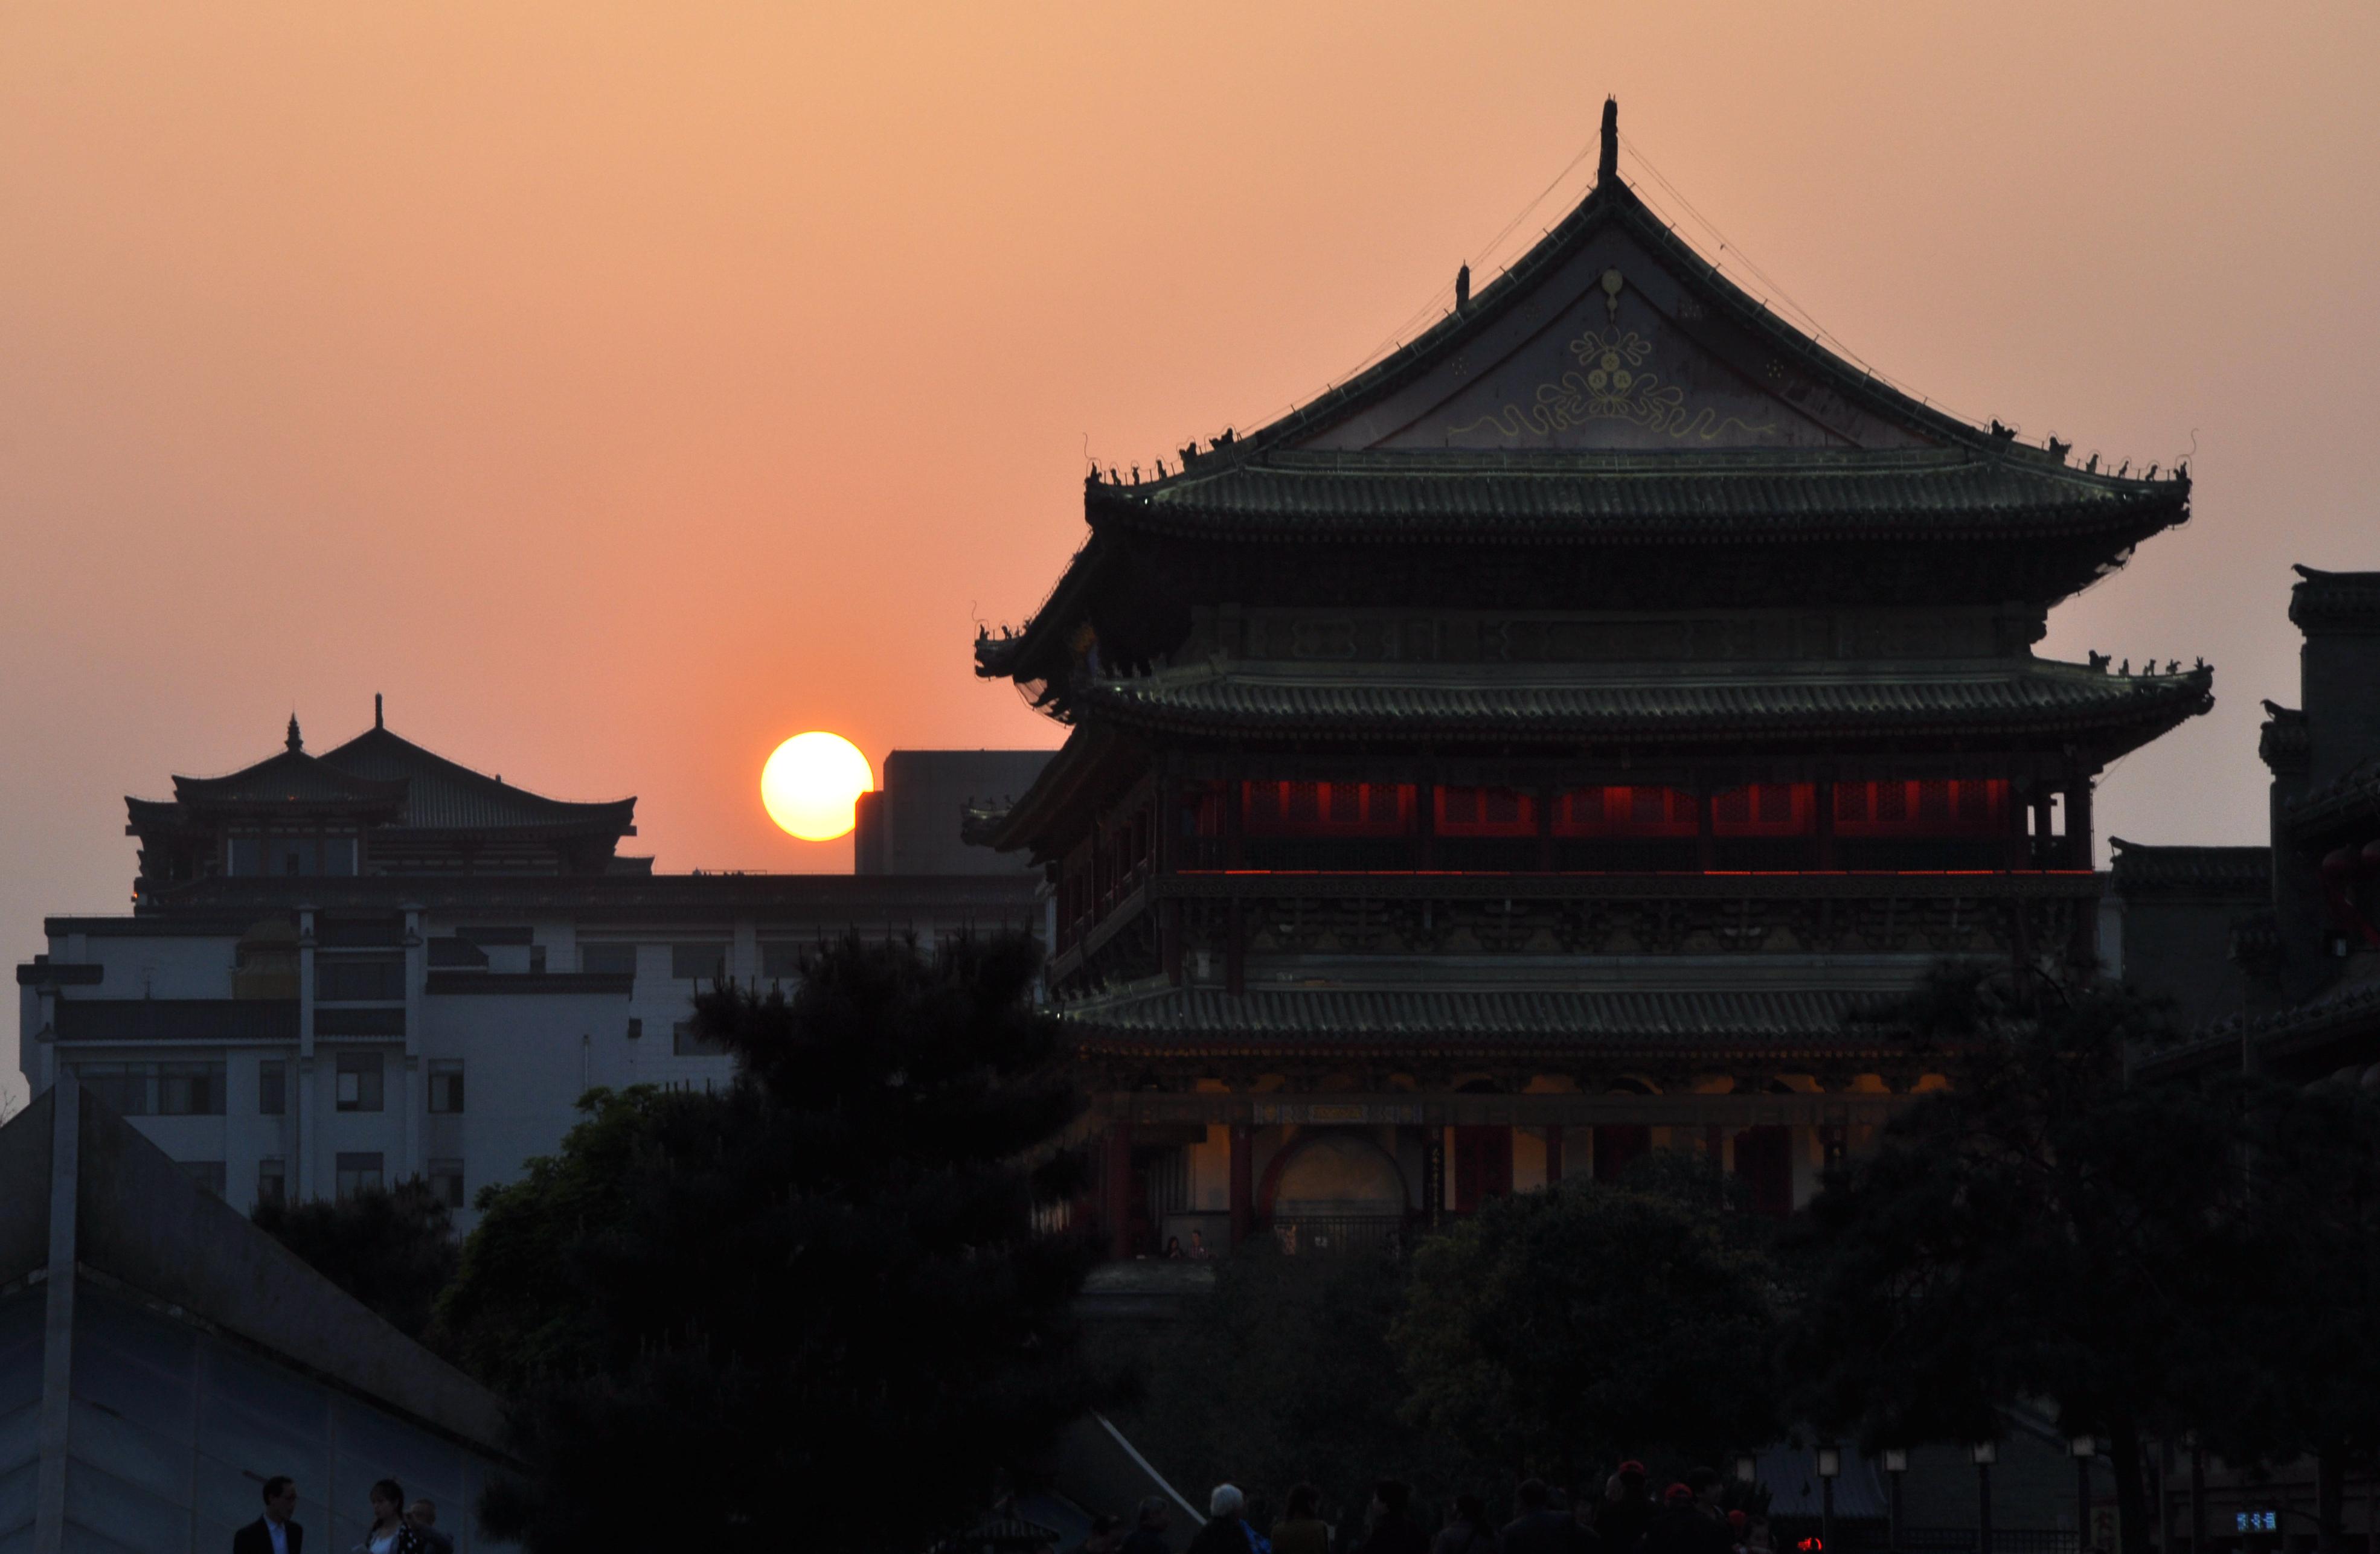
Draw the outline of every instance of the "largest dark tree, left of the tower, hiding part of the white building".
[[[728,1090],[595,1092],[481,1197],[440,1318],[536,1466],[490,1533],[928,1547],[1081,1411],[1088,1254],[1033,1230],[1076,1185],[1052,1142],[1081,1102],[1035,954],[845,940],[790,997],[704,992]]]

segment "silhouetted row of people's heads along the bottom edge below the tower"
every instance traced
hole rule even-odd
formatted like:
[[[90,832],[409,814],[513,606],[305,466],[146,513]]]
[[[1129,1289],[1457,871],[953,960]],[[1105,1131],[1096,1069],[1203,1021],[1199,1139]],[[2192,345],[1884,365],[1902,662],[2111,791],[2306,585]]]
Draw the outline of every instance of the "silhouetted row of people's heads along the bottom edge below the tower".
[[[1514,1492],[1514,1516],[1490,1518],[1478,1495],[1457,1495],[1435,1535],[1407,1485],[1371,1487],[1361,1516],[1323,1521],[1314,1485],[1290,1490],[1280,1516],[1266,1516],[1235,1485],[1207,1497],[1207,1523],[1188,1554],[1768,1554],[1768,1523],[1726,1506],[1726,1483],[1695,1468],[1659,1495],[1645,1464],[1623,1461],[1602,1490],[1564,1495],[1542,1478]],[[1166,1554],[1173,1502],[1152,1495],[1133,1523],[1102,1516],[1083,1554]]]

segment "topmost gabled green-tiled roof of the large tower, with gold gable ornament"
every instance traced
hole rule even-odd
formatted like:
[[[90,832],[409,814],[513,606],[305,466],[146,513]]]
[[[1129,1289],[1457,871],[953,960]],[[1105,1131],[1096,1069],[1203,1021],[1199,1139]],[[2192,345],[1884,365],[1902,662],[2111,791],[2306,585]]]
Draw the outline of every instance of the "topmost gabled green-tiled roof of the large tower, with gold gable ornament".
[[[1242,547],[1276,574],[1280,545],[1723,562],[1749,545],[1761,576],[1790,559],[1859,597],[1909,602],[1918,578],[2047,604],[2187,519],[2180,471],[2075,469],[2061,443],[1968,426],[1787,326],[1616,176],[1614,136],[1606,124],[1595,190],[1416,340],[1252,436],[1185,447],[1176,471],[1095,471],[1090,543],[1023,631],[978,640],[978,671],[1061,676],[1102,595],[1121,590],[1109,621],[1138,614],[1171,559],[1119,557],[1126,538]],[[1825,550],[1844,543],[1871,552],[1866,576]],[[1416,571],[1433,574],[1447,569]],[[1742,593],[1747,578],[1678,557],[1659,588]]]

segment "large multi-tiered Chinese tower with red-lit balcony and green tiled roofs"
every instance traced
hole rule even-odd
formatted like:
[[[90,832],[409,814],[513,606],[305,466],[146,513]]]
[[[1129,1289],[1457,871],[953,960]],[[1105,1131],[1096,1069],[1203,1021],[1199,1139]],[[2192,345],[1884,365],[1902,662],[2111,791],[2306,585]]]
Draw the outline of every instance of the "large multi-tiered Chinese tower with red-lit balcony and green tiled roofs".
[[[2087,961],[2094,776],[2211,673],[2035,657],[2190,483],[1956,421],[1618,176],[1435,328],[1092,474],[978,643],[1069,726],[971,835],[1054,895],[1116,1254],[1380,1240],[1654,1147],[1787,1211],[1911,1090],[1844,1014]]]

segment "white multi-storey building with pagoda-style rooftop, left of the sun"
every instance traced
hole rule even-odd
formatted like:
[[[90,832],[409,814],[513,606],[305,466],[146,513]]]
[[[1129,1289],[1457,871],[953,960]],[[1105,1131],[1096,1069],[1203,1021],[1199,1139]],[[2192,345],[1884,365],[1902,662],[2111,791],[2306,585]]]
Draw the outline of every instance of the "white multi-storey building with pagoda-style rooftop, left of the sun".
[[[1042,926],[1038,876],[962,852],[954,809],[942,866],[976,873],[652,873],[619,854],[635,800],[547,800],[378,716],[324,754],[290,719],[271,759],[126,807],[133,911],[48,919],[17,966],[26,1080],[74,1066],[236,1207],[424,1176],[469,1223],[585,1090],[728,1078],[697,983],[790,978],[845,930]]]

